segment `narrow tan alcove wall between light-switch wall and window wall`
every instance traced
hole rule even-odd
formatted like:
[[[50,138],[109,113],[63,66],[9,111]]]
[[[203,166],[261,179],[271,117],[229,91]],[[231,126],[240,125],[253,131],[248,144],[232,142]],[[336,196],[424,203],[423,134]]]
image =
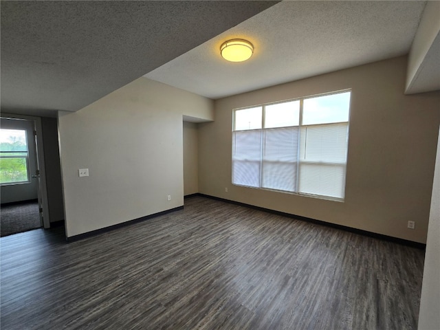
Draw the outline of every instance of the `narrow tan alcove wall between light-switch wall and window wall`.
[[[195,122],[184,122],[184,195],[199,192],[199,134]]]

